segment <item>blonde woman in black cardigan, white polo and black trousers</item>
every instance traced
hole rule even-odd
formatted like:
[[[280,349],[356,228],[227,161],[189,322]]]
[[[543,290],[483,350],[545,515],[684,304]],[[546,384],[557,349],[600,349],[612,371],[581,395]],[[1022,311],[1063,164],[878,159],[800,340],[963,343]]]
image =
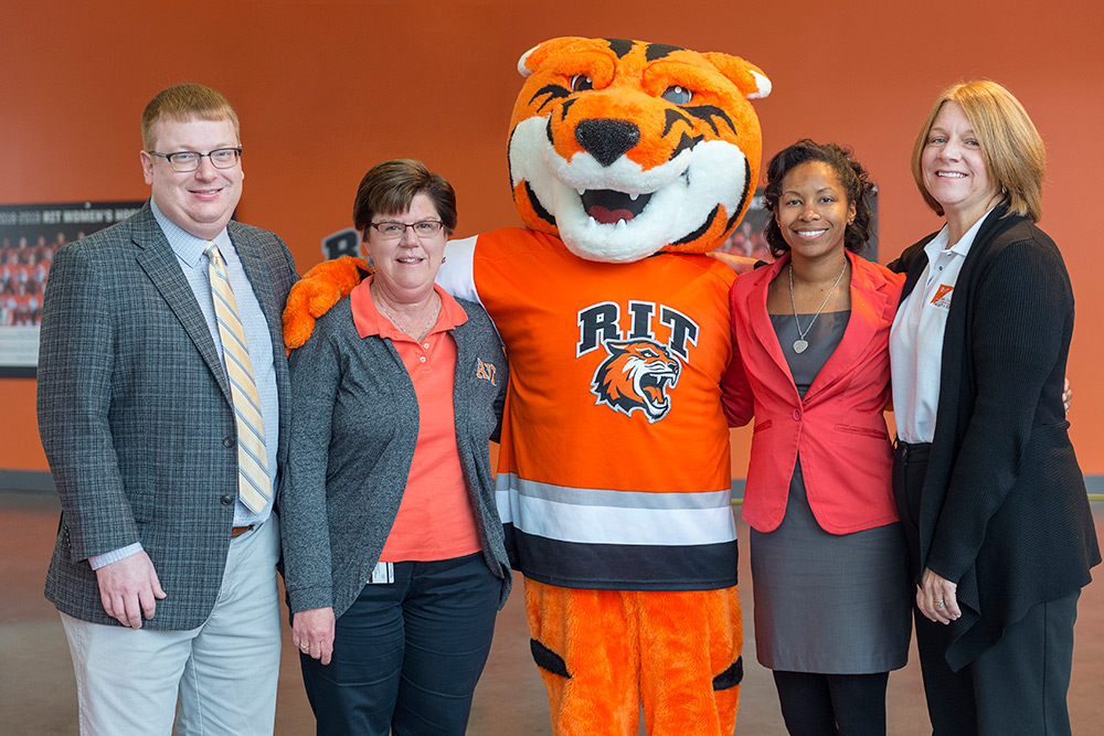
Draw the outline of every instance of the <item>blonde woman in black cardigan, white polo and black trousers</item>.
[[[1073,291],[1041,215],[1042,140],[992,82],[946,89],[913,175],[943,230],[907,248],[890,338],[894,493],[942,734],[1069,734],[1073,622],[1101,561],[1062,406]]]

